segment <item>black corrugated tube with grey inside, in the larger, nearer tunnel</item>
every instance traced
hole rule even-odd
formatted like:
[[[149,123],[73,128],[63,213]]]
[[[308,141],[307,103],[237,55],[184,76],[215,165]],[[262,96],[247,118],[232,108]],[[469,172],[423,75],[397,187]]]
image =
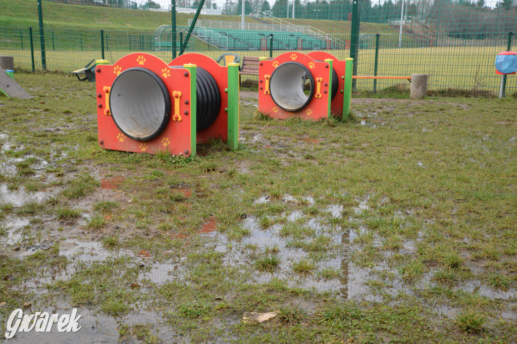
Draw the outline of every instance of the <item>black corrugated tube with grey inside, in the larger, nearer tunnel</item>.
[[[171,66],[171,68],[184,68]],[[221,92],[214,77],[196,69],[196,130],[212,125],[221,109]],[[116,126],[127,137],[147,141],[159,136],[171,117],[171,97],[160,77],[135,67],[120,73],[110,91],[110,111]]]

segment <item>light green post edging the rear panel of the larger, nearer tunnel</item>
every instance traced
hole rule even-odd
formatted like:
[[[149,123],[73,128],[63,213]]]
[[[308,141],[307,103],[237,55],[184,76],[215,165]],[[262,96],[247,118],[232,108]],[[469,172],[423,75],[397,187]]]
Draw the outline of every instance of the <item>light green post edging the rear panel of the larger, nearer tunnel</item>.
[[[239,64],[228,63],[228,145],[239,146]]]

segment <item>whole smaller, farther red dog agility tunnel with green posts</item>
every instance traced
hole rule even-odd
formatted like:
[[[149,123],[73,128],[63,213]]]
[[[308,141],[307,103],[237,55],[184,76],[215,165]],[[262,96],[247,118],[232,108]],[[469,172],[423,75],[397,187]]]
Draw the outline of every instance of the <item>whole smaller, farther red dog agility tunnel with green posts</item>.
[[[258,108],[278,119],[297,116],[318,120],[331,113],[348,116],[352,70],[347,74],[347,67],[351,69],[351,60],[341,61],[326,52],[284,53],[273,60],[261,59]]]

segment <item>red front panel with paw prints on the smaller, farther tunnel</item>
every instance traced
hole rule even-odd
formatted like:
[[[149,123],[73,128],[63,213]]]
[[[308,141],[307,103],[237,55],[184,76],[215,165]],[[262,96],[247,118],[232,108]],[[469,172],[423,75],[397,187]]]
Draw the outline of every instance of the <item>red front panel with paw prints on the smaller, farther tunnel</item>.
[[[309,69],[314,78],[314,95],[312,100],[307,106],[296,112],[285,111],[278,107],[269,92],[269,77],[273,74],[275,68],[285,62],[299,62],[303,64]],[[315,61],[310,56],[298,52],[284,53],[277,56],[274,60],[261,60],[258,63],[258,110],[276,119],[287,119],[293,116],[311,120],[327,118],[329,114],[328,104],[330,97],[329,79],[332,75],[329,67],[328,62]],[[318,79],[321,79],[319,83],[317,81]],[[317,92],[318,84],[320,88],[319,93]],[[341,93],[338,90],[338,95],[339,94]],[[336,97],[338,95],[336,95]],[[342,94],[341,98],[343,98]],[[343,103],[341,103],[341,112],[343,111],[342,104]]]

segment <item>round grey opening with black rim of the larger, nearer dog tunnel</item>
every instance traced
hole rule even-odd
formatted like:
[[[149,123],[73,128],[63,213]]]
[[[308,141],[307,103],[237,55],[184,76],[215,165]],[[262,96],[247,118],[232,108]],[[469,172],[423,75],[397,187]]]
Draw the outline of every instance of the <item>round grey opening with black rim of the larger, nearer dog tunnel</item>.
[[[156,73],[129,68],[113,81],[110,111],[121,132],[134,140],[146,141],[160,135],[169,123],[171,97]]]

